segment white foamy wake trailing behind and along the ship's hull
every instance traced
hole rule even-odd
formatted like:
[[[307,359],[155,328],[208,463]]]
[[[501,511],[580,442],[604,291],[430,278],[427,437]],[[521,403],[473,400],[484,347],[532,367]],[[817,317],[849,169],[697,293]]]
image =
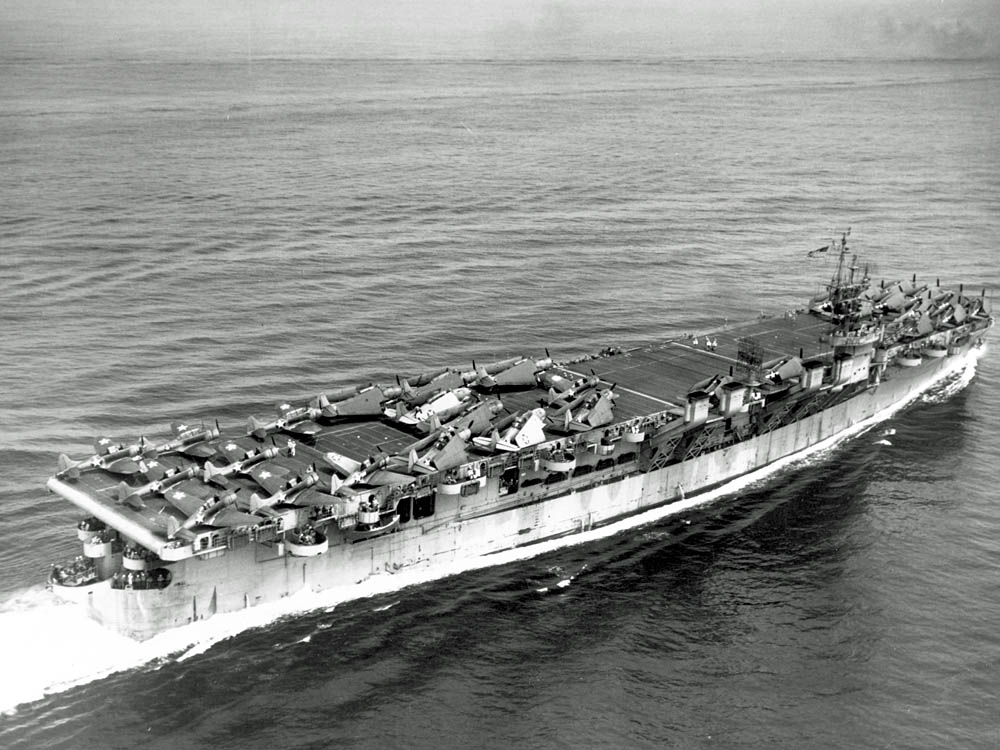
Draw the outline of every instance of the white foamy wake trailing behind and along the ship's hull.
[[[957,368],[917,397],[933,402],[950,398],[969,384],[975,373],[975,365],[976,359],[970,358],[967,366]],[[89,619],[81,607],[57,600],[40,586],[22,591],[0,603],[0,632],[6,636],[9,644],[17,644],[16,648],[8,650],[6,679],[0,684],[0,712],[16,712],[18,705],[40,700],[47,695],[115,672],[141,667],[160,669],[183,663],[220,641],[251,628],[272,624],[284,617],[324,608],[329,611],[345,601],[391,593],[466,571],[526,560],[563,547],[585,544],[655,523],[711,503],[722,496],[757,486],[776,472],[788,468],[798,469],[824,460],[841,443],[890,418],[903,406],[905,404],[897,404],[859,422],[840,435],[739,477],[711,492],[682,498],[608,526],[454,563],[404,569],[394,573],[382,572],[349,588],[322,592],[303,591],[272,604],[216,615],[208,620],[175,628],[141,643],[104,629]],[[544,586],[544,589],[559,591],[568,586],[574,577],[554,575],[554,580],[550,585]],[[536,590],[541,591],[542,588],[536,586]],[[391,605],[379,607],[375,611],[385,612],[387,617],[392,616]],[[310,647],[310,640],[307,637],[298,643]]]

